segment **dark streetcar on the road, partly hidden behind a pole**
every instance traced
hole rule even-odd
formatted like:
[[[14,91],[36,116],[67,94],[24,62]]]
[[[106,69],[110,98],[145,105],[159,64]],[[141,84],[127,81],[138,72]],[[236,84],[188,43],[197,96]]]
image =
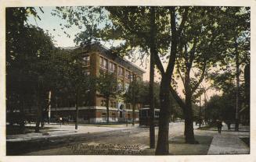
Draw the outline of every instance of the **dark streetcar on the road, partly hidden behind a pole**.
[[[154,125],[158,125],[160,109],[154,109]],[[139,109],[139,126],[150,126],[150,107]]]

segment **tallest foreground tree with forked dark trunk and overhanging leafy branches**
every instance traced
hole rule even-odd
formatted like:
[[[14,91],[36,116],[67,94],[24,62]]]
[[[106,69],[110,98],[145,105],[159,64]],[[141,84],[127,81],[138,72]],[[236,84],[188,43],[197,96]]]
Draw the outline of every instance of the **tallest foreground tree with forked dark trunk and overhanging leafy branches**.
[[[181,16],[180,26],[176,26],[176,15],[175,15],[175,7],[156,7],[156,18],[155,22],[150,22],[150,9],[155,7],[105,7],[107,12],[109,12],[109,18],[111,23],[107,23],[106,27],[99,32],[99,35],[103,40],[110,39],[119,39],[125,40],[125,44],[118,49],[124,49],[123,51],[131,51],[133,48],[141,48],[145,54],[149,54],[150,52],[154,52],[152,55],[155,58],[155,64],[157,65],[157,69],[160,71],[161,83],[160,83],[160,128],[159,135],[157,140],[157,154],[168,154],[168,132],[169,132],[169,118],[170,118],[170,91],[169,86],[171,84],[171,75],[175,66],[175,57],[177,54],[177,43],[178,38],[181,36],[184,23],[186,22],[187,10],[184,8],[179,9]],[[83,11],[83,9],[78,9]],[[91,9],[91,8],[90,8]],[[63,8],[59,9],[63,12]],[[84,16],[67,16],[67,12],[70,14],[76,12],[75,9],[67,9],[63,12],[62,16],[68,19],[71,24],[79,23],[79,17]],[[77,12],[77,13],[78,13]],[[79,12],[81,13],[81,12]],[[76,14],[75,14],[76,15]],[[79,15],[79,14],[77,14]],[[86,17],[86,16],[85,16]],[[143,19],[142,19],[143,17]],[[80,19],[81,20],[81,19]],[[91,24],[90,29],[93,32],[97,33],[97,29],[95,24],[97,23],[88,23],[87,19],[83,19],[82,23],[88,26]],[[155,24],[155,25],[154,25]],[[86,26],[86,27],[87,27]],[[157,33],[155,37],[151,37],[150,29],[151,27],[156,26]],[[171,26],[171,27],[170,27]],[[99,28],[98,28],[99,29]],[[178,30],[177,30],[178,29]],[[92,33],[93,33],[92,32]],[[94,35],[94,38],[99,36],[97,34]],[[81,33],[78,34],[79,41],[86,42],[88,41],[88,37]],[[91,37],[91,35],[90,35]],[[82,38],[82,39],[81,39]],[[151,42],[155,40],[155,44]],[[89,39],[92,40],[92,39]],[[168,58],[168,68],[166,71],[164,70],[164,66],[160,61],[160,56],[167,55],[168,48],[170,48],[171,44],[171,53]],[[156,47],[154,48],[153,45]],[[152,50],[152,51],[151,51]],[[126,53],[128,54],[128,53]]]

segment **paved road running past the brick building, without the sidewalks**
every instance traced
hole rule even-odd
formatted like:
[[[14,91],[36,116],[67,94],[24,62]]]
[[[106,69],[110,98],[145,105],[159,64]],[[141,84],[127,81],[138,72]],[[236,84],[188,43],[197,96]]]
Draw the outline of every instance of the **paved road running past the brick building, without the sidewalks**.
[[[85,126],[83,129],[86,128],[87,127]],[[157,141],[158,128],[155,130]],[[169,138],[182,136],[183,131],[183,122],[170,123]],[[63,143],[58,141],[60,139],[52,139],[52,143],[54,143],[54,140],[56,140],[56,145],[45,146],[37,151],[30,150],[30,153],[23,153],[23,155],[90,154],[89,151],[92,151],[89,148],[90,146],[101,146],[105,148],[111,146],[138,146],[139,150],[144,150],[145,148],[149,148],[149,135],[149,128],[142,128],[138,126],[128,128],[123,127],[123,129],[114,129],[107,132],[88,133],[84,134],[83,136],[81,136],[81,134],[76,136],[73,135],[65,139],[62,138],[62,140],[64,140]],[[78,147],[82,147],[84,152],[79,152]],[[104,153],[95,152],[94,154]]]

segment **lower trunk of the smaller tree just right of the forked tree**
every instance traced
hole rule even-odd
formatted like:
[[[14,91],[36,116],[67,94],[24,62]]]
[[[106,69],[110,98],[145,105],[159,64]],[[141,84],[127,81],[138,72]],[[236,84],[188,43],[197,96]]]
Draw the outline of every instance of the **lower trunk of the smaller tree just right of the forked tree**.
[[[184,111],[185,118],[185,141],[190,144],[197,144],[193,131],[193,110],[191,97],[186,97],[186,108]]]

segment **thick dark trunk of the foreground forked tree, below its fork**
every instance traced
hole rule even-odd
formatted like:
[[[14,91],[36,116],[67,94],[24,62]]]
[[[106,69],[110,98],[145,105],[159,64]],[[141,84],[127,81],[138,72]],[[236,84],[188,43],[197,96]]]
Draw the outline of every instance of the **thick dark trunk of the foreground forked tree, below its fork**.
[[[160,117],[156,155],[169,154],[170,80],[163,76],[160,83]]]

